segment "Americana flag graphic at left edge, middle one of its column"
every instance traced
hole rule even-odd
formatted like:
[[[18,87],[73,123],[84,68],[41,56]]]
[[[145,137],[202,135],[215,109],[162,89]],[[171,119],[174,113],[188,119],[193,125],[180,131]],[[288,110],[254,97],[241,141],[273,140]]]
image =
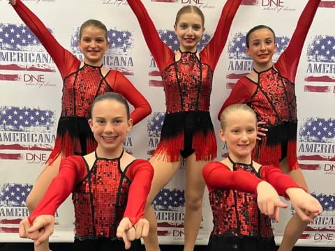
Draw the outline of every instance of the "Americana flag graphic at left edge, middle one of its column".
[[[55,127],[55,114],[50,109],[1,106],[0,160],[22,160],[23,151],[51,151],[50,144],[36,145],[31,135],[51,135]]]

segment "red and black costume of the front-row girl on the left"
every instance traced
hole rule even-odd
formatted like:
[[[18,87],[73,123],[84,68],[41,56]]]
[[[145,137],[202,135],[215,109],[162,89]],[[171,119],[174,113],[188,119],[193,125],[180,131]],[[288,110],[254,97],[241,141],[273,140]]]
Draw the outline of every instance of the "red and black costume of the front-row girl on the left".
[[[92,240],[114,241],[122,218],[129,218],[133,225],[143,218],[154,175],[147,160],[133,160],[121,171],[122,154],[115,159],[96,155],[91,168],[81,156],[62,160],[58,176],[29,216],[29,222],[39,215],[54,215],[72,192],[78,245],[82,245],[80,241],[87,245]]]

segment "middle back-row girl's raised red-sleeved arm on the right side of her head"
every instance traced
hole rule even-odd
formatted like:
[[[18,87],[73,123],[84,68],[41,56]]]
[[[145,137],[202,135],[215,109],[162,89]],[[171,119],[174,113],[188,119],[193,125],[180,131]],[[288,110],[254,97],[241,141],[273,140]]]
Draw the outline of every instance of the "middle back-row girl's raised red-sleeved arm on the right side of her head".
[[[241,0],[228,0],[225,3],[214,36],[201,52],[210,62],[212,70],[215,70],[216,63],[218,63],[218,59],[220,59],[221,52],[223,51],[228,38],[230,27],[232,26],[232,20],[234,20],[234,16],[237,13],[240,3]]]

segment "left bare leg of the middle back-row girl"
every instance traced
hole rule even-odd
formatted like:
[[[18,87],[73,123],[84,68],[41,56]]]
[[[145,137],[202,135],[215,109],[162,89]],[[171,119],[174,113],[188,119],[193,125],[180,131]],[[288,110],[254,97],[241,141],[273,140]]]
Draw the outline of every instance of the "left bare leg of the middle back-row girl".
[[[164,162],[156,157],[151,158],[151,165],[154,167],[154,178],[151,183],[151,190],[147,198],[144,218],[149,220],[150,228],[148,237],[144,238],[145,250],[158,251],[157,219],[151,202],[154,201],[158,192],[168,184],[181,165],[181,158],[177,162]],[[39,250],[38,250],[39,251]]]

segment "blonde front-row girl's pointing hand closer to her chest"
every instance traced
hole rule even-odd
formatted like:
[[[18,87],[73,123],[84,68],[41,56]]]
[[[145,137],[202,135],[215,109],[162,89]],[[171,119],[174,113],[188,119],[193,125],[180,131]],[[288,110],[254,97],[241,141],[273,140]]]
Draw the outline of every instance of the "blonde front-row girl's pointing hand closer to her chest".
[[[278,192],[266,181],[261,181],[257,186],[257,204],[260,212],[268,215],[270,219],[279,222],[279,208],[287,208],[288,205],[279,199]]]

